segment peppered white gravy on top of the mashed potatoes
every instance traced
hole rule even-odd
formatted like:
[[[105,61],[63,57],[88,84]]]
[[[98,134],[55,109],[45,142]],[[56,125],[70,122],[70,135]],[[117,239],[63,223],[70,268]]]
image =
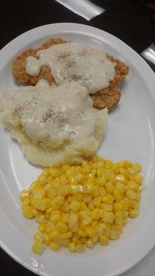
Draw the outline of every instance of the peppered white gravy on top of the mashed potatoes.
[[[34,144],[45,137],[83,139],[94,131],[96,114],[87,88],[75,81],[49,86],[23,86],[17,92],[3,92],[10,99],[12,116],[21,121]]]

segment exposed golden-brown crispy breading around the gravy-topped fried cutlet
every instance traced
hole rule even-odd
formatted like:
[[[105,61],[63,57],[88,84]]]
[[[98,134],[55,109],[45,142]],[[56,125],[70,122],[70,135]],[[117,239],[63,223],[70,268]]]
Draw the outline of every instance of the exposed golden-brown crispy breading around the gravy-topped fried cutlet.
[[[39,48],[30,48],[28,50],[23,51],[23,53],[19,55],[17,59],[15,59],[12,63],[12,75],[14,76],[14,78],[17,79],[17,81],[32,86],[34,86],[39,81],[39,79],[45,79],[46,81],[48,81],[49,84],[53,83],[54,77],[52,77],[50,68],[48,66],[42,66],[39,75],[30,76],[25,71],[25,63],[27,57],[36,57],[36,54],[39,50],[50,48],[50,46],[59,43],[66,43],[66,41],[61,38],[49,39],[48,41],[43,43],[43,45]],[[110,82],[109,88],[105,88],[97,92],[96,94],[92,95],[94,107],[99,109],[105,107],[111,108],[116,103],[118,103],[119,99],[121,98],[121,91],[116,87],[116,84],[123,81],[129,72],[129,68],[125,66],[125,63],[119,61],[118,59],[114,59],[114,57],[110,55],[107,55],[107,58],[110,59],[110,61],[116,63],[116,75],[114,79]]]

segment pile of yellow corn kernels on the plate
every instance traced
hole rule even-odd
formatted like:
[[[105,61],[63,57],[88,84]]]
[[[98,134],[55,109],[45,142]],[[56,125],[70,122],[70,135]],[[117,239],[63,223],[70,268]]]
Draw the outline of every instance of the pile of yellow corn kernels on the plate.
[[[81,166],[45,168],[20,195],[23,215],[39,224],[33,252],[41,254],[47,245],[81,253],[84,245],[119,239],[128,217],[139,214],[143,177],[138,172],[140,164],[96,156]]]

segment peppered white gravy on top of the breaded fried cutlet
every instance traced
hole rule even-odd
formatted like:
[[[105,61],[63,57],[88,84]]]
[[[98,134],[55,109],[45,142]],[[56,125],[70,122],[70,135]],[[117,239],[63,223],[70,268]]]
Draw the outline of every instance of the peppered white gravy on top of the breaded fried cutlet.
[[[68,42],[39,50],[37,59],[28,57],[25,70],[29,75],[37,76],[43,65],[50,67],[57,85],[77,81],[94,94],[110,86],[116,64],[107,59],[104,51]]]

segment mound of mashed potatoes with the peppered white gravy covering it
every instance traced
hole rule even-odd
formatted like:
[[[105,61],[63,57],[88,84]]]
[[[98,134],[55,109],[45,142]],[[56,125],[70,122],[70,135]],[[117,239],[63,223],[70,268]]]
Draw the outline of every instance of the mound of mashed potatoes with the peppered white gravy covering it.
[[[97,110],[87,88],[76,82],[25,86],[3,91],[0,119],[32,164],[79,164],[98,150],[107,109]]]

